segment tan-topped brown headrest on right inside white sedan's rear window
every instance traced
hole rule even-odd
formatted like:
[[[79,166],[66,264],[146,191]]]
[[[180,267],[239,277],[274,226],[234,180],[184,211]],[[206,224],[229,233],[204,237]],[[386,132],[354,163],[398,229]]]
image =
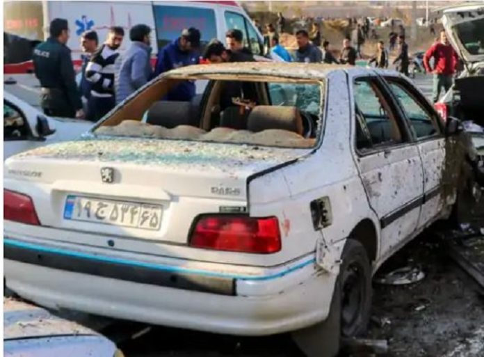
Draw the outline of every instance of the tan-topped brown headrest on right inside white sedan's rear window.
[[[296,106],[256,106],[250,112],[247,128],[251,132],[283,129],[302,135],[302,118]]]

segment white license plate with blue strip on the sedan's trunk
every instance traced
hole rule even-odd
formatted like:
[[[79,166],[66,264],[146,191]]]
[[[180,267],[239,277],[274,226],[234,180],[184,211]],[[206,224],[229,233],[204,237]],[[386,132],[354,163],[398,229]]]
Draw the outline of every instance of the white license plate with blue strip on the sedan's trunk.
[[[159,230],[163,207],[145,203],[99,200],[83,196],[67,196],[64,219],[119,225],[122,227]]]

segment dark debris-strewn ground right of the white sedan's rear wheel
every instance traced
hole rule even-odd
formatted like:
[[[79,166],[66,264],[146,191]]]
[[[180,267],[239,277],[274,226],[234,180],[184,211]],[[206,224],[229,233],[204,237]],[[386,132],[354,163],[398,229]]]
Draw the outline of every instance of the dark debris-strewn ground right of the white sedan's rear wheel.
[[[374,285],[369,336],[389,341],[389,356],[461,356],[455,351],[480,340],[484,356],[483,290],[446,253],[446,244],[429,233],[406,246],[380,271],[405,262],[421,266],[426,278],[401,287]],[[375,324],[375,321],[380,324]],[[389,322],[381,326],[381,322]]]

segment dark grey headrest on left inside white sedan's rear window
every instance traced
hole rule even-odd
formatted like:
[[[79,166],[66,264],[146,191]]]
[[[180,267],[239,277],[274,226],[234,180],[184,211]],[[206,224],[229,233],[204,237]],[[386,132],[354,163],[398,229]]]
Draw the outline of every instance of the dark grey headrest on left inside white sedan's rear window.
[[[154,103],[146,118],[146,122],[152,125],[161,125],[172,129],[178,125],[197,126],[197,118],[192,115],[190,102],[156,102]]]

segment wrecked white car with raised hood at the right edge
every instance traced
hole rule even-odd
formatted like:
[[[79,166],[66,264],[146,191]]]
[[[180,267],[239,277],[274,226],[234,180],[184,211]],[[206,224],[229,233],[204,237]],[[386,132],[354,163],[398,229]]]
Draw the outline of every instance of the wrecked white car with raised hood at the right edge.
[[[465,69],[454,86],[435,104],[444,120],[462,120],[465,132],[474,146],[476,177],[467,182],[466,193],[460,195],[461,216],[484,225],[484,4],[470,3],[449,6],[442,10],[442,24],[451,45],[459,54]],[[478,182],[478,183],[477,183]],[[469,215],[469,213],[471,213]],[[463,219],[463,217],[461,218]]]

